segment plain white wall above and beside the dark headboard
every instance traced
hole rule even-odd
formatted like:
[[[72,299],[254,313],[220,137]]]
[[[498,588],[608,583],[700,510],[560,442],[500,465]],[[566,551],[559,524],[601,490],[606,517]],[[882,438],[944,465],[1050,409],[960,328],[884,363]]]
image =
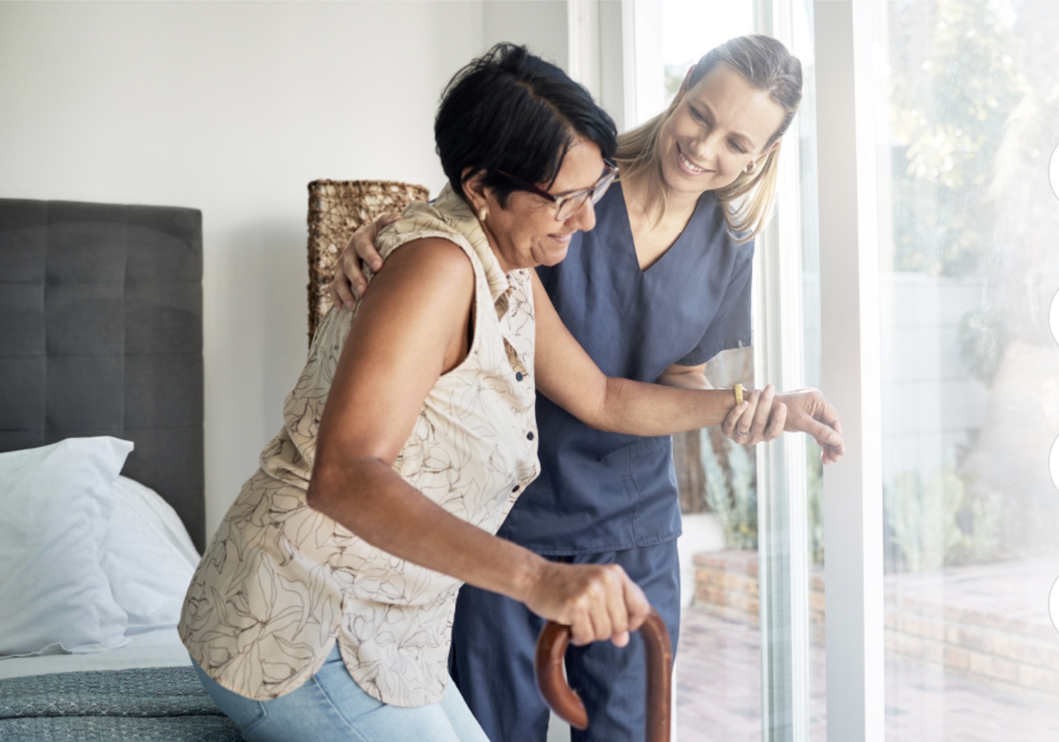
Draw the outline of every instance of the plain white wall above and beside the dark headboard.
[[[306,183],[444,182],[471,2],[0,3],[0,197],[185,206],[204,231],[210,534],[306,350]]]

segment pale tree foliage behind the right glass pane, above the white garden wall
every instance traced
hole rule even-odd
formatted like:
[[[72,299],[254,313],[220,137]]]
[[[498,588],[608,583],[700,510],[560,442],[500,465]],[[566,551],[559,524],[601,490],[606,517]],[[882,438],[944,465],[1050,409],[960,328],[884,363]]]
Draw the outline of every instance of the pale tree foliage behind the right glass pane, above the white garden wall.
[[[1028,92],[1013,4],[889,5],[895,270],[974,272],[990,250],[987,195],[1004,122]]]

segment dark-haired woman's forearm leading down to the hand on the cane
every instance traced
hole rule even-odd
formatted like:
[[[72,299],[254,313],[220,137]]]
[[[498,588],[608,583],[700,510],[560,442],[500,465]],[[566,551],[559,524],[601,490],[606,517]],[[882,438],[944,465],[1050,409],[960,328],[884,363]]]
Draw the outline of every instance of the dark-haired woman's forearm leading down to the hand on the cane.
[[[545,566],[532,551],[452,515],[376,458],[318,462],[306,500],[394,556],[516,600],[526,599]]]

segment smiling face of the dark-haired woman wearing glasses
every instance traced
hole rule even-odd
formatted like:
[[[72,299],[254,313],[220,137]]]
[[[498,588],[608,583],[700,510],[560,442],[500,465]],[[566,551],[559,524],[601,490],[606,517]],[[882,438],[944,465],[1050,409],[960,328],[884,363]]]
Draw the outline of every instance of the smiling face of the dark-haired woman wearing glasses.
[[[561,196],[592,188],[603,174],[604,160],[599,147],[594,142],[578,138],[567,152],[551,188],[542,183],[537,186]],[[483,206],[486,208],[483,227],[504,272],[537,265],[555,265],[567,257],[574,232],[587,232],[595,227],[595,210],[591,200],[586,201],[570,218],[560,222],[555,218],[554,202],[527,191],[515,191],[507,197],[507,207],[501,208],[492,189],[482,188],[481,176],[467,180],[464,193],[475,213]]]

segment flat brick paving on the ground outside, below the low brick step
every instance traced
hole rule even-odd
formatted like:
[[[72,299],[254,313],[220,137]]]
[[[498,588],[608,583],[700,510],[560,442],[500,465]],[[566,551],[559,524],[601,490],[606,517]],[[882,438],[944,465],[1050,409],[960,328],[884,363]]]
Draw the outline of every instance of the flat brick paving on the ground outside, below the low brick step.
[[[698,607],[684,612],[677,662],[680,742],[761,739],[756,626]],[[810,653],[810,739],[826,741],[823,634]],[[959,676],[951,668],[886,658],[887,742],[1046,742],[1059,739],[1059,704]]]

